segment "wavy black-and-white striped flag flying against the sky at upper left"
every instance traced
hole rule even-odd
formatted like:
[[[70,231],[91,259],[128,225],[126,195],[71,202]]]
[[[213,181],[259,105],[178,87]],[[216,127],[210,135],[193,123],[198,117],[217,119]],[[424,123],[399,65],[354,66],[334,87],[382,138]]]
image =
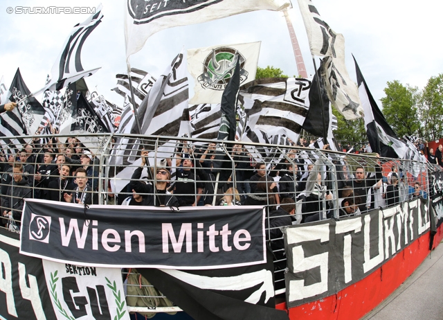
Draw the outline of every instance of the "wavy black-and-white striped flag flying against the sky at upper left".
[[[84,41],[102,21],[103,15],[101,11],[102,5],[100,4],[96,8],[96,13],[81,24],[76,24],[73,27],[71,34],[64,43],[62,52],[60,52],[53,65],[51,82],[44,89],[38,91],[38,93],[45,90],[60,90],[70,83],[93,75],[93,73],[100,69],[96,68],[85,71],[80,56]]]

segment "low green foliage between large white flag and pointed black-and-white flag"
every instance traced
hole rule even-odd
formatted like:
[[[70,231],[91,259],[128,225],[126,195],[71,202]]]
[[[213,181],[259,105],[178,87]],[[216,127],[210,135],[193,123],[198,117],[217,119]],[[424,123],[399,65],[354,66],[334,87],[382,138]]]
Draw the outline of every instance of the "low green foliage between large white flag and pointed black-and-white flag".
[[[337,117],[337,130],[334,131],[334,137],[338,141],[346,141],[354,145],[355,143],[365,143],[366,137],[365,122],[363,118],[358,120],[346,120],[338,110],[332,107],[332,114]]]

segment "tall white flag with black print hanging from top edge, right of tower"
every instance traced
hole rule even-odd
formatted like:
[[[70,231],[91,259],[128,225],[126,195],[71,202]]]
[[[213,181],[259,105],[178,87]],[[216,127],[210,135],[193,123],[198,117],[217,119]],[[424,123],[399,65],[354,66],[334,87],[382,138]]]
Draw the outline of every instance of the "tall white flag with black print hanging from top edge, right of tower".
[[[345,38],[336,33],[320,17],[311,0],[298,0],[309,40],[311,54],[325,57],[321,64],[321,76],[332,105],[347,120],[361,118],[363,108],[356,85],[345,65]]]

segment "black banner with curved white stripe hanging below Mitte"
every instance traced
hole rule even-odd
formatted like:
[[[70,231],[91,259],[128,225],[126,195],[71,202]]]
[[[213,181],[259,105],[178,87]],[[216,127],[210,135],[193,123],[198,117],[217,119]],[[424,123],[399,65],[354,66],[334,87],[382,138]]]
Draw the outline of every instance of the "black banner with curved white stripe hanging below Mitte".
[[[227,269],[137,270],[195,320],[288,320],[284,310],[275,309],[270,250],[266,260]]]

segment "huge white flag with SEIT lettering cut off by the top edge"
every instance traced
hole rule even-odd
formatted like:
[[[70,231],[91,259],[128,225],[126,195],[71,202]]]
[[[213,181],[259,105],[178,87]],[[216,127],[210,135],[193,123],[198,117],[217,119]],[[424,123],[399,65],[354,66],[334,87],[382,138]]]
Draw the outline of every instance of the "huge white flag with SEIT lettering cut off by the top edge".
[[[255,10],[280,11],[289,6],[289,0],[127,0],[126,57],[140,51],[147,38],[166,28],[200,24]]]

